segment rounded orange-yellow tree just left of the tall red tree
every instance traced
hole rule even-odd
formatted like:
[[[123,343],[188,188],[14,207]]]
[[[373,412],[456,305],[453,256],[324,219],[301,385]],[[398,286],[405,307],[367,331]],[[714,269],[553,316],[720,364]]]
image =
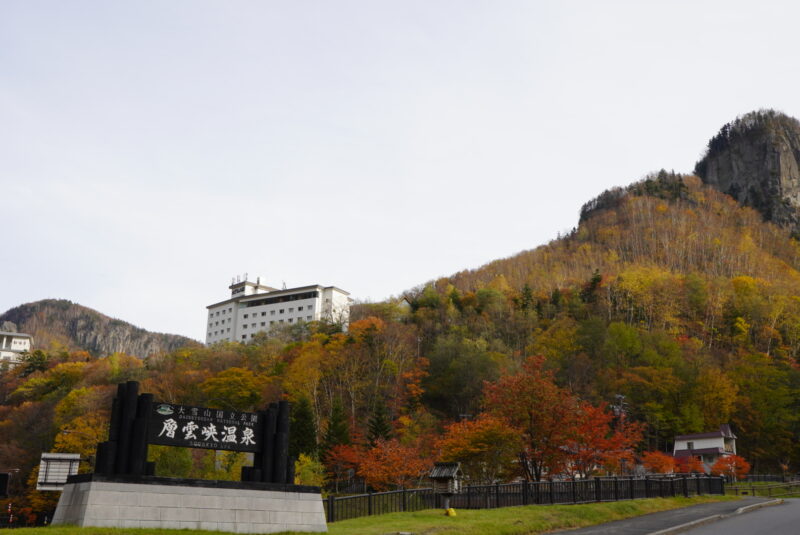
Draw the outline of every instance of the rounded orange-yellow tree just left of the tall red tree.
[[[493,483],[509,476],[522,446],[522,435],[491,414],[447,426],[436,443],[445,462],[460,462],[472,483]]]

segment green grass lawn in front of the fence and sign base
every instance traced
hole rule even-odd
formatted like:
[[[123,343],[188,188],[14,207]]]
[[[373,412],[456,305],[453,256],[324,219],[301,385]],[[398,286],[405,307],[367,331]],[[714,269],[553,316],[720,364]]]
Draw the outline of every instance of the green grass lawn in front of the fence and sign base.
[[[546,533],[560,529],[602,524],[632,516],[736,498],[700,496],[695,498],[651,498],[586,505],[530,505],[501,509],[457,510],[457,516],[446,517],[443,511],[429,509],[416,513],[392,513],[356,518],[328,525],[333,535],[386,535],[400,531],[415,535],[514,535]],[[20,528],[15,535],[219,535],[219,531],[187,531],[171,529],[117,529],[47,527]]]

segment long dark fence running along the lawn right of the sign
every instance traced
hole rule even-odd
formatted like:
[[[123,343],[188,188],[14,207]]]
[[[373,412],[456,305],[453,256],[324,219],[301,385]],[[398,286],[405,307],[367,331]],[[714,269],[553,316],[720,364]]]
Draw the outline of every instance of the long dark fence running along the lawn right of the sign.
[[[504,485],[468,485],[450,498],[457,509],[494,509],[514,505],[576,504],[638,498],[666,498],[725,494],[721,477],[598,477],[567,481],[537,481]],[[433,489],[369,492],[355,496],[328,496],[328,522],[403,511],[443,507]]]

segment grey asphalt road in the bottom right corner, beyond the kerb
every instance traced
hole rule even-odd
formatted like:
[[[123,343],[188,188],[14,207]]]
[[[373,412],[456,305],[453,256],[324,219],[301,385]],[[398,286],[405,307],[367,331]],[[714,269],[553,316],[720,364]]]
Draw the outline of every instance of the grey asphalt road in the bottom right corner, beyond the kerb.
[[[787,499],[782,505],[764,507],[750,513],[725,518],[685,533],[690,535],[800,534],[800,499]]]

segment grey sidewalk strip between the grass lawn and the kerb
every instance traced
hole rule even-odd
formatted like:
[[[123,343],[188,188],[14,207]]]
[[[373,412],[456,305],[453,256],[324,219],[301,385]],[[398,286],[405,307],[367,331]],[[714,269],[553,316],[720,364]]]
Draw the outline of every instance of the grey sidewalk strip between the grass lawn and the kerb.
[[[653,533],[654,531],[671,528],[673,526],[685,524],[686,522],[691,522],[693,520],[699,520],[700,518],[705,518],[707,516],[732,514],[739,507],[766,501],[768,501],[767,498],[750,497],[743,498],[741,500],[731,500],[728,502],[704,503],[701,505],[693,505],[692,507],[685,507],[683,509],[673,509],[672,511],[651,513],[649,515],[638,516],[636,518],[618,520],[617,522],[609,522],[608,524],[601,524],[599,526],[563,531],[561,533],[569,535],[646,535],[648,533]],[[766,509],[769,509],[769,507]],[[741,516],[752,515],[756,512],[758,511],[746,513],[745,515]],[[748,533],[749,535],[754,533],[776,533],[787,535],[800,534],[800,518],[797,519],[796,526],[796,531],[742,533]],[[709,527],[712,530],[714,529],[714,525],[709,525]],[[692,533],[694,534],[694,532]],[[724,533],[725,535],[732,535],[726,531],[709,531],[708,533]]]

